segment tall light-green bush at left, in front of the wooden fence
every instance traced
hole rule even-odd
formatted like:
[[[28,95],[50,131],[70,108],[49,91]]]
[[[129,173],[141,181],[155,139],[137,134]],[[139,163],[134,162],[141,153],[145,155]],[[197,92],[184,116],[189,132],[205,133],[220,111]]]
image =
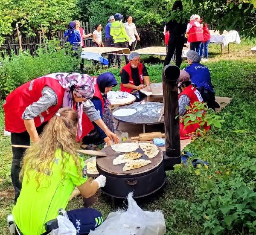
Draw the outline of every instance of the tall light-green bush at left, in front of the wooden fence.
[[[56,48],[54,44],[48,43],[47,50],[38,48],[35,56],[24,51],[0,58],[0,99],[5,99],[16,87],[34,78],[49,73],[79,71],[80,59],[69,48]]]

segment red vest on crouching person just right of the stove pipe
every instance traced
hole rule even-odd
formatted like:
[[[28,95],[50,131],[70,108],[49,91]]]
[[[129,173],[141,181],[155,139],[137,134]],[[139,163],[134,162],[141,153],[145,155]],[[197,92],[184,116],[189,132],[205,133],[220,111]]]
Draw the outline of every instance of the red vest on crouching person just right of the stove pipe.
[[[204,102],[200,92],[192,85],[189,85],[188,87],[186,87],[186,89],[183,90],[183,92],[181,92],[179,94],[179,98],[181,95],[187,95],[189,97],[189,100],[190,100],[189,106],[190,107],[192,107],[192,105],[195,102],[198,102],[198,101],[200,101],[202,103]],[[185,114],[187,114],[187,112]],[[189,121],[189,122],[191,122],[191,121]],[[200,127],[199,123],[194,123],[194,124],[188,125],[185,129],[184,129],[184,126],[185,126],[184,122],[180,122],[180,139],[190,139],[191,136],[189,134],[192,132],[195,132],[196,129]],[[210,127],[207,126],[206,124],[204,125],[204,129],[209,130],[209,128]]]

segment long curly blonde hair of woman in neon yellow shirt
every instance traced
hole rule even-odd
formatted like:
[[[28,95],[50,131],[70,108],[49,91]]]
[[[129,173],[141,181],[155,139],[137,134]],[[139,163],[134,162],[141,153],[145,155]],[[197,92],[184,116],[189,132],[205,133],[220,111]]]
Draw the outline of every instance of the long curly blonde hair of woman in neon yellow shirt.
[[[77,156],[79,144],[76,142],[76,133],[78,126],[78,113],[71,108],[61,108],[53,116],[50,122],[45,126],[44,131],[40,135],[35,144],[26,150],[25,156],[21,163],[20,180],[24,174],[27,175],[29,182],[29,171],[36,170],[35,180],[40,186],[40,178],[47,177],[50,184],[50,175],[52,164],[55,162],[55,153],[57,149],[61,149],[61,173],[63,179],[64,169],[67,164],[67,157],[73,157],[73,160],[81,172],[81,164]]]

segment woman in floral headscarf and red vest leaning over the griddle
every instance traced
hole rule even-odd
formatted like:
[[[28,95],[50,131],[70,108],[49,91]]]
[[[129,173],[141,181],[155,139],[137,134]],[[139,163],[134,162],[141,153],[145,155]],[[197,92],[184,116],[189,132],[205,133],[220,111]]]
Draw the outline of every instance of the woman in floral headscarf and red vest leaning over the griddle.
[[[90,121],[96,122],[115,142],[116,134],[111,132],[102,121],[99,113],[89,100],[93,97],[94,86],[90,76],[80,73],[53,73],[36,78],[17,87],[3,105],[5,112],[5,128],[11,132],[12,145],[30,145],[39,139],[44,125],[52,118],[60,107],[71,107],[78,111],[78,137],[93,129]],[[82,130],[82,113],[85,112]],[[25,148],[12,147],[12,183],[15,188],[15,201],[20,194],[19,181],[20,162]]]

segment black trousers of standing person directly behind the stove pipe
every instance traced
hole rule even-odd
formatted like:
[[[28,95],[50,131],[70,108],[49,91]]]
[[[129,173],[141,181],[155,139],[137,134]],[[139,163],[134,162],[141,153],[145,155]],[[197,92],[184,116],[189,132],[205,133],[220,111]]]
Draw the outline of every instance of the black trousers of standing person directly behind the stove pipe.
[[[182,49],[183,49],[184,44],[185,44],[184,35],[177,36],[177,35],[170,34],[170,38],[168,41],[168,52],[167,52],[166,58],[163,62],[163,66],[170,64],[170,61],[171,61],[172,56],[176,49],[176,65],[177,65],[177,67],[180,67],[180,64],[182,62],[181,55],[182,55]]]

